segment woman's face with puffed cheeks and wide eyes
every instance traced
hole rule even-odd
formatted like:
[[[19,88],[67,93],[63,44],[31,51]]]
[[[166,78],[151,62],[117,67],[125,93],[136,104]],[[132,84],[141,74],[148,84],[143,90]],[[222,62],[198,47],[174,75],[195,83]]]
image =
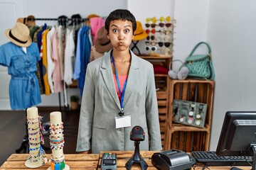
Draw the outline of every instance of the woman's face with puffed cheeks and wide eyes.
[[[132,22],[114,20],[110,22],[110,31],[107,35],[114,49],[124,51],[129,49],[134,35],[132,33]]]

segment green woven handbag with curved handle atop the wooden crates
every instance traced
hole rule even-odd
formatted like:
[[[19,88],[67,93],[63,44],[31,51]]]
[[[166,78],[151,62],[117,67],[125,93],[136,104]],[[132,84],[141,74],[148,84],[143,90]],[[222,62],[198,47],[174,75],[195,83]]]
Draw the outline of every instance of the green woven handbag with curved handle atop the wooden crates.
[[[208,54],[193,55],[199,45],[206,45],[208,47]],[[194,79],[210,79],[213,80],[215,72],[213,69],[213,62],[210,56],[210,45],[206,42],[199,42],[186,58],[186,67],[188,68],[188,77]]]

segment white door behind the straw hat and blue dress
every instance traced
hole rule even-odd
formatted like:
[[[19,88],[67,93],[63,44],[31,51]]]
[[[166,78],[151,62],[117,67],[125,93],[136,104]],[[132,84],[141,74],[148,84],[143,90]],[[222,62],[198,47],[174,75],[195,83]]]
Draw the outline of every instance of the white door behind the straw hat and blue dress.
[[[13,28],[17,18],[26,17],[26,0],[0,0],[0,45],[8,42],[4,31]],[[0,65],[0,110],[11,110],[7,67]]]

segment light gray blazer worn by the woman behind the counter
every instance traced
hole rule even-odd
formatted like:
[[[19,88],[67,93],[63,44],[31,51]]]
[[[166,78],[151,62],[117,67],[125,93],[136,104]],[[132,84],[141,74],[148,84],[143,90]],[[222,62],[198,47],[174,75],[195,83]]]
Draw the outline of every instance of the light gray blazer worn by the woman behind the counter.
[[[110,62],[110,52],[87,65],[82,94],[77,152],[134,150],[130,131],[135,125],[144,129],[141,150],[161,150],[159,113],[150,62],[132,55],[124,93],[124,113],[130,114],[132,126],[115,128],[115,115],[121,111]],[[150,139],[150,140],[149,140]],[[149,143],[150,141],[150,143]]]

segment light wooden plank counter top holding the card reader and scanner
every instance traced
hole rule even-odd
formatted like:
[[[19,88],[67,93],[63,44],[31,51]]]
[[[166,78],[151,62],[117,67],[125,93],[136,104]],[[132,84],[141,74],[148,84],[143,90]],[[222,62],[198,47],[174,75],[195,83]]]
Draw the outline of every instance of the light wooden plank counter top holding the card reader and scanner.
[[[110,151],[117,153],[117,169],[125,170],[125,164],[132,157],[134,151]],[[100,154],[65,154],[65,163],[70,166],[70,169],[100,169],[102,154],[105,152],[100,152]],[[148,164],[148,170],[156,170],[156,168],[151,164],[151,156],[154,154],[153,151],[140,151],[142,158]],[[0,166],[0,169],[27,169],[25,166],[25,161],[29,154],[11,154],[11,156]],[[48,160],[50,159],[50,154],[46,154]],[[50,162],[39,167],[38,169],[48,169],[50,167]],[[193,166],[196,170],[203,169],[202,164],[196,164]],[[249,170],[251,166],[237,166],[240,169]],[[206,169],[210,170],[220,170],[220,169],[230,169],[230,166],[208,166]],[[132,169],[141,169],[138,164],[134,164]],[[29,169],[31,170],[31,169]]]

